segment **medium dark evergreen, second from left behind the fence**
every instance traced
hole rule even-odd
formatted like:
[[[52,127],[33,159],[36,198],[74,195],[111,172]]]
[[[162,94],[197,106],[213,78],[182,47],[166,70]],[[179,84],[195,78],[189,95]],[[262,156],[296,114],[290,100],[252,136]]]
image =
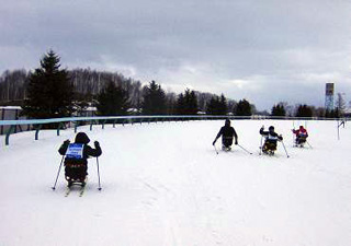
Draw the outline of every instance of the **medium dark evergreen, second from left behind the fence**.
[[[98,94],[98,115],[118,116],[126,115],[128,109],[128,94],[113,81]]]

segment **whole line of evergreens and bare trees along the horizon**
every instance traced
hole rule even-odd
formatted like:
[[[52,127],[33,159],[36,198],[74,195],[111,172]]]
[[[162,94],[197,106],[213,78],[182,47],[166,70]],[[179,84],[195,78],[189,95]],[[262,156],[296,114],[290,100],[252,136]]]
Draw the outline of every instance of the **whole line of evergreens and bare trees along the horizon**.
[[[247,99],[239,102],[213,93],[186,89],[180,94],[166,92],[151,81],[139,81],[116,72],[60,68],[60,58],[49,50],[34,71],[5,71],[0,77],[0,104],[22,106],[29,118],[57,118],[79,115],[88,106],[99,116],[141,115],[235,115],[253,114],[297,117],[338,117],[341,110],[326,112],[307,105],[273,105],[271,113],[257,112]]]

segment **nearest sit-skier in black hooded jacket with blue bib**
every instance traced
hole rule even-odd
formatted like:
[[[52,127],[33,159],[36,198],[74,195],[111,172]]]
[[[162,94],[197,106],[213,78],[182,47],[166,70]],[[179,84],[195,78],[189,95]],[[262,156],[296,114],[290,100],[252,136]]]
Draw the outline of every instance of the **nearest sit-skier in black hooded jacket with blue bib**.
[[[66,155],[65,178],[68,181],[68,187],[73,183],[79,183],[84,186],[88,175],[88,157],[98,157],[102,153],[98,141],[94,141],[95,149],[88,145],[90,139],[84,132],[78,132],[75,143],[66,140],[58,150],[59,154]]]

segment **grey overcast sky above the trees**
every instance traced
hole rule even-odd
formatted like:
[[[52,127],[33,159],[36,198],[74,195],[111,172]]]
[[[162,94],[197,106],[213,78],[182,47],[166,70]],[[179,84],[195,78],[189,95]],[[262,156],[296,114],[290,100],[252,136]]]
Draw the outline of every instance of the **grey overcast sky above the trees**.
[[[0,73],[118,71],[166,91],[186,87],[324,106],[325,83],[351,101],[350,0],[0,0]]]

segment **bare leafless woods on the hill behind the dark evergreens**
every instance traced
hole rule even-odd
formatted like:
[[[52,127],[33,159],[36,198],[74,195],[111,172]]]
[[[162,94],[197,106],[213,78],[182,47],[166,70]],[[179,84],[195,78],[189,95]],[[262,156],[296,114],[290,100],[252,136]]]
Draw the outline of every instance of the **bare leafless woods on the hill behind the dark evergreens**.
[[[91,69],[73,69],[68,70],[68,77],[71,86],[79,99],[93,102],[97,95],[105,87],[105,85],[113,81],[117,86],[123,87],[128,96],[131,107],[140,108],[143,103],[143,91],[148,85],[141,84],[140,81],[126,78],[118,72],[97,71]],[[0,77],[0,105],[18,105],[21,106],[26,98],[26,85],[31,71],[22,70],[7,70]],[[205,112],[207,103],[216,96],[213,93],[203,93],[195,91],[197,98],[199,110]],[[171,104],[177,102],[178,94],[167,92],[167,101]],[[231,112],[236,101],[228,99],[228,110]]]

